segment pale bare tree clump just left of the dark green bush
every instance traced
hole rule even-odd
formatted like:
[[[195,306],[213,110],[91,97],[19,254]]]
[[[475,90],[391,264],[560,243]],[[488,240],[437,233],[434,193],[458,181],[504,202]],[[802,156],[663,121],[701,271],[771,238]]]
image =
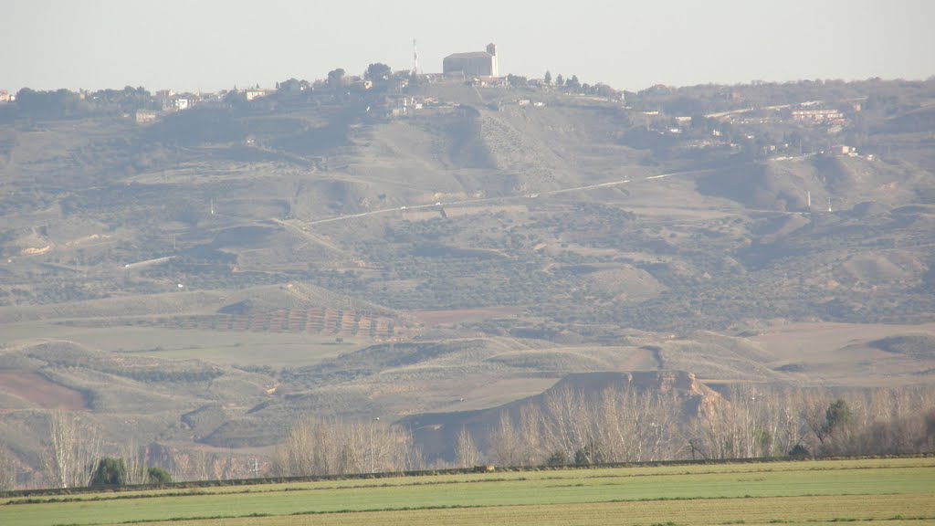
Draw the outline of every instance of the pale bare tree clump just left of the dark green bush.
[[[43,468],[56,488],[80,488],[91,483],[101,457],[101,437],[78,416],[56,411],[49,424],[49,445]]]

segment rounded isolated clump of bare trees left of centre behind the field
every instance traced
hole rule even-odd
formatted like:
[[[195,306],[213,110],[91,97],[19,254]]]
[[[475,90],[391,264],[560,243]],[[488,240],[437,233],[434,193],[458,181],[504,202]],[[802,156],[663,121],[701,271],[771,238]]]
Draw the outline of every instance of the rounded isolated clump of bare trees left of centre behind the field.
[[[379,419],[341,421],[307,417],[276,447],[270,475],[344,475],[421,467],[409,432]]]

